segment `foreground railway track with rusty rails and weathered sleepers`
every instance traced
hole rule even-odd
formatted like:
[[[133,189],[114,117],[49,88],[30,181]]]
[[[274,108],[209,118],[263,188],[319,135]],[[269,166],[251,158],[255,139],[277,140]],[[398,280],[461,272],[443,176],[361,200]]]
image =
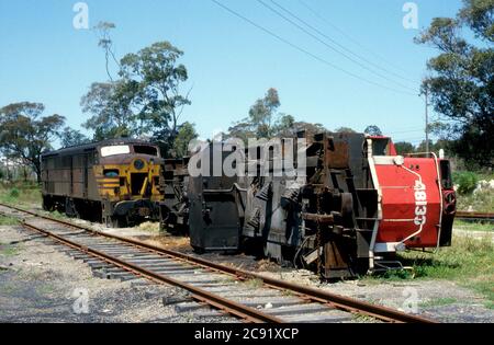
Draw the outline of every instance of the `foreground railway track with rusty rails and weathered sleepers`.
[[[394,309],[325,290],[265,277],[65,220],[0,204],[0,212],[23,219],[30,231],[60,243],[76,258],[103,269],[106,277],[146,279],[187,290],[207,304],[246,322],[350,322],[368,315],[383,322],[434,323]],[[255,284],[248,284],[255,281]]]

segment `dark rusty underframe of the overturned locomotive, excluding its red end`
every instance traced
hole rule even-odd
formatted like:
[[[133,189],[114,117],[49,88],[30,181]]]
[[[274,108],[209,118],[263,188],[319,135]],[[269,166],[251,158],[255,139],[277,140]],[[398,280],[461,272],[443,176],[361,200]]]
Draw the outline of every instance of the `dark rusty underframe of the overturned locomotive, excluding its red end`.
[[[211,174],[183,179],[186,162],[169,162],[165,174],[175,202],[162,208],[164,226],[188,223],[191,245],[201,252],[254,245],[280,264],[311,268],[325,278],[366,273],[378,193],[364,136],[321,134],[292,149],[296,174],[276,173],[283,166],[277,160],[287,152],[273,154],[270,145],[257,148],[255,159],[245,156],[248,173],[242,176],[214,176],[210,166]],[[303,173],[296,166],[301,153]],[[223,163],[232,151],[215,143],[199,154],[202,162],[220,154]]]

